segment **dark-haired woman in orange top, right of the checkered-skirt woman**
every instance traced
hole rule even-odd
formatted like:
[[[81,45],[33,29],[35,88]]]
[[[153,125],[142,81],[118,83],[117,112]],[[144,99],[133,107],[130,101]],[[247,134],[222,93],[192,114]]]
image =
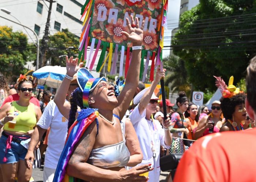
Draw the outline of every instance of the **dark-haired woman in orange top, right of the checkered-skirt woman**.
[[[197,106],[194,103],[189,103],[187,111],[184,112],[184,115],[189,131],[187,137],[189,140],[195,140],[193,130],[195,130],[195,128],[197,127],[199,118]]]

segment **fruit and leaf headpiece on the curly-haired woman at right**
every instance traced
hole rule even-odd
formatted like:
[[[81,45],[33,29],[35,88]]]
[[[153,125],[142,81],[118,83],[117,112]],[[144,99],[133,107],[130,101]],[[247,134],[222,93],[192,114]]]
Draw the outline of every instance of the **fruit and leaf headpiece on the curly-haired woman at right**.
[[[227,86],[224,80],[219,76],[214,76],[216,78],[215,85],[219,88],[224,98],[231,98],[236,94],[242,93],[240,88],[237,88],[233,85],[234,77],[230,76],[229,78],[229,85]]]

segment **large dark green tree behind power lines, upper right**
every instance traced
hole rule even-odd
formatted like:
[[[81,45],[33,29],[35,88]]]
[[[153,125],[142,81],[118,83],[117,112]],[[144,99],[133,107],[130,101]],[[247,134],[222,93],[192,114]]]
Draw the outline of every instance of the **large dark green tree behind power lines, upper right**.
[[[234,84],[255,56],[256,0],[200,0],[180,17],[173,52],[185,61],[195,90],[215,91],[214,77]]]

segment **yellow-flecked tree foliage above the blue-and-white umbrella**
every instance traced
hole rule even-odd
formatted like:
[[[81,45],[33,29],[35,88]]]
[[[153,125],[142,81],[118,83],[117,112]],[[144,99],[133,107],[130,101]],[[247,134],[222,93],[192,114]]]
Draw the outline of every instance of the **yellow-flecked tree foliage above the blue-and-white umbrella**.
[[[46,59],[51,59],[51,66],[66,66],[65,56],[75,56],[79,54],[79,38],[68,29],[62,29],[61,32],[57,32],[54,35],[49,36],[48,51],[46,53]],[[61,56],[59,58],[59,56]],[[78,57],[78,56],[76,56]],[[46,63],[44,63],[46,64]]]

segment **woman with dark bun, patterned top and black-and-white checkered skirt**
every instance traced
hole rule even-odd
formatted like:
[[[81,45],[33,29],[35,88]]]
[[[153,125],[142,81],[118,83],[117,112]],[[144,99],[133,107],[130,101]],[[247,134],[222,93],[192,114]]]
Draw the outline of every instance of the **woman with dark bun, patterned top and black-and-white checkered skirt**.
[[[184,153],[184,134],[188,135],[189,130],[187,128],[187,122],[185,120],[184,112],[188,109],[188,98],[184,91],[179,92],[179,96],[176,99],[176,105],[178,109],[172,114],[170,132],[173,134],[172,146],[170,153]]]

